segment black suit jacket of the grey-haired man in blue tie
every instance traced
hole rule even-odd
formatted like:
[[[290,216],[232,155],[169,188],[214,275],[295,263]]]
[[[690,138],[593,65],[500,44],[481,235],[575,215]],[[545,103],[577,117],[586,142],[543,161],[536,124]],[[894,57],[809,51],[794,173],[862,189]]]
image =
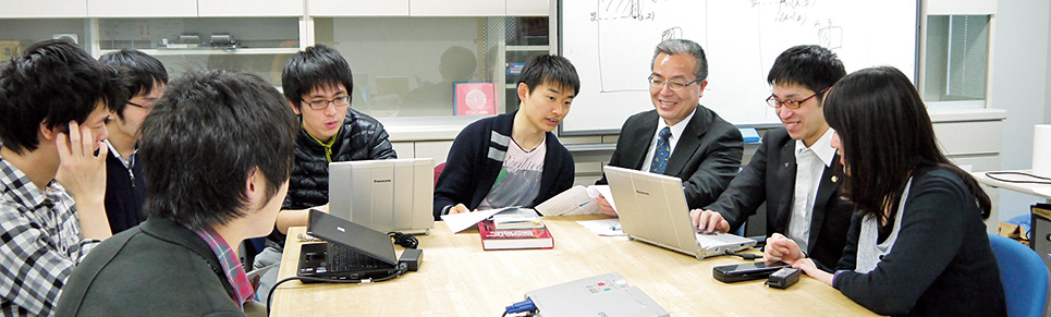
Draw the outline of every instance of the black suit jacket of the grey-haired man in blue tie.
[[[657,134],[657,110],[636,113],[624,122],[610,166],[641,170],[649,144]],[[726,190],[741,168],[744,139],[741,131],[714,111],[697,105],[697,111],[675,150],[668,158],[665,175],[683,180],[686,204],[691,209],[711,204]],[[596,184],[608,184],[606,174]]]

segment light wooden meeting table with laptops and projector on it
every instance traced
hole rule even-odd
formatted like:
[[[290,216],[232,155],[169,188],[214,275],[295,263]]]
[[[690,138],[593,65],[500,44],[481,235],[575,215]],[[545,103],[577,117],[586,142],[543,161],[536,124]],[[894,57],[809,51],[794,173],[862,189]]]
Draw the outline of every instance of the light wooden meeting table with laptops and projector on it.
[[[873,315],[835,289],[806,276],[787,290],[762,280],[726,284],[711,268],[744,261],[720,256],[697,260],[624,236],[598,236],[575,221],[604,216],[546,217],[553,249],[482,251],[477,229],[452,234],[436,222],[419,237],[419,271],[368,284],[290,281],[273,295],[272,316],[500,316],[536,289],[619,272],[672,316]],[[298,233],[290,230],[280,278],[295,275]],[[401,246],[395,245],[400,254]]]

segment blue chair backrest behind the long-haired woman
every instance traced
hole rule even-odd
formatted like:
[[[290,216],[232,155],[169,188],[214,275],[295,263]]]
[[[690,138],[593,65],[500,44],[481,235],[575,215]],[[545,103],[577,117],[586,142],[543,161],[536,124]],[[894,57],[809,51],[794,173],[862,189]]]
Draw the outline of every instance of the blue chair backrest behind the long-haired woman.
[[[1043,316],[1048,267],[1040,255],[1006,236],[989,234],[989,244],[1000,265],[1007,316]]]

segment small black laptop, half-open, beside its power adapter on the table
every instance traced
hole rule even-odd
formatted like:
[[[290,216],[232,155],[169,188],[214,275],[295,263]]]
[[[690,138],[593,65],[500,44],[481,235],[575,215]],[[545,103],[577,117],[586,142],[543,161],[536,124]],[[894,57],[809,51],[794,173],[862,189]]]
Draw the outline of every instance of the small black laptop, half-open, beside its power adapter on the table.
[[[302,245],[298,277],[360,280],[398,271],[394,243],[387,233],[314,209],[306,231],[326,242]]]

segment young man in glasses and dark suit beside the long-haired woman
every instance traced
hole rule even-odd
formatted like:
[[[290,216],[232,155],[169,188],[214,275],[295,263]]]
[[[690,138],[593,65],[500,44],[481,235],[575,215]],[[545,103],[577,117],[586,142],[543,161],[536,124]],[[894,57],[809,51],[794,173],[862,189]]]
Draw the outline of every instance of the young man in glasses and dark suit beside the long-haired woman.
[[[835,265],[843,253],[854,206],[840,198],[835,173],[842,170],[831,146],[835,133],[824,121],[824,93],[846,71],[835,53],[796,46],[773,62],[767,98],[782,129],[767,131],[751,162],[707,210],[693,210],[694,225],[728,232],[767,204],[767,235],[784,234],[811,258]]]

